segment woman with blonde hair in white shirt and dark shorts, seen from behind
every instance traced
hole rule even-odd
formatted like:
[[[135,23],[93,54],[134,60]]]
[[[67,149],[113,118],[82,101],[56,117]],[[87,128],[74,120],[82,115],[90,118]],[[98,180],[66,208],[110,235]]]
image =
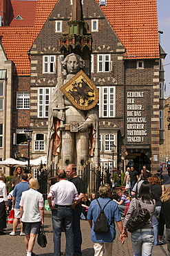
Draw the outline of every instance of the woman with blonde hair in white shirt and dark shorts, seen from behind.
[[[29,181],[30,190],[23,192],[20,202],[21,221],[25,233],[27,256],[32,253],[36,234],[39,234],[41,224],[44,224],[43,195],[38,192],[39,182],[32,178]]]

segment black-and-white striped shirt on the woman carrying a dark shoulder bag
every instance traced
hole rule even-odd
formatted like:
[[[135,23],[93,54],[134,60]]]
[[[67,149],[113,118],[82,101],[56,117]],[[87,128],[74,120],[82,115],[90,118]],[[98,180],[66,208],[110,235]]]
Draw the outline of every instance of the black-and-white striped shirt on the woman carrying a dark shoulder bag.
[[[142,199],[138,199],[138,201],[140,203],[140,207],[143,209],[149,210],[149,214],[150,214],[149,221],[147,221],[147,223],[145,223],[141,228],[152,228],[153,226],[151,223],[151,219],[152,219],[153,212],[155,212],[155,210],[156,210],[155,199],[153,199],[153,201],[151,201],[151,203],[143,202]],[[125,222],[123,224],[124,228],[127,228],[128,221],[131,218],[131,214],[134,212],[134,210],[136,210],[136,198],[131,199],[131,203],[129,205],[129,210],[127,212],[127,215],[125,217]]]

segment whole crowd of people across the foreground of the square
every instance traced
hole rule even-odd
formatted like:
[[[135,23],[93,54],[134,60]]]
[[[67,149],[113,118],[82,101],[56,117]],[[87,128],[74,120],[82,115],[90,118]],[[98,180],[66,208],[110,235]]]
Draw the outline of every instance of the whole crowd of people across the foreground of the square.
[[[108,184],[103,184],[98,189],[98,195],[93,192],[89,196],[85,193],[83,180],[76,174],[76,165],[70,164],[66,170],[58,170],[56,176],[49,179],[50,192],[47,194],[52,210],[54,256],[82,255],[81,219],[89,222],[94,256],[102,256],[104,251],[105,255],[112,255],[116,236],[115,223],[120,231],[120,241],[124,243],[129,219],[137,208],[136,199],[143,209],[149,211],[150,219],[131,233],[134,256],[151,255],[153,246],[163,244],[164,240],[170,255],[170,188],[165,190],[162,181],[161,170],[157,174],[151,174],[144,165],[139,174],[131,166],[125,172],[125,191],[112,191]],[[11,203],[14,222],[10,235],[17,235],[16,229],[20,222],[20,235],[25,236],[27,256],[34,256],[36,254],[32,250],[36,234],[39,234],[40,226],[44,224],[43,195],[37,191],[37,179],[23,173],[21,167],[14,171],[12,188],[12,193],[7,195],[6,176],[0,173],[0,235],[6,234],[6,212]],[[100,212],[98,203],[101,208],[105,207],[109,224],[109,231],[105,233],[94,231],[94,223]],[[65,232],[65,252],[61,252],[61,232]]]

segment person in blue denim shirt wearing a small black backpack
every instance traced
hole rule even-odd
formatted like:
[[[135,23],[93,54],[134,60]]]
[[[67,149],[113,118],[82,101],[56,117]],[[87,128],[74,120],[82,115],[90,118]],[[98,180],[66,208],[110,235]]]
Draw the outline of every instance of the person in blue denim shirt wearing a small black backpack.
[[[100,185],[99,198],[90,203],[87,220],[91,228],[91,239],[94,242],[94,256],[112,255],[113,241],[116,236],[115,223],[120,231],[120,241],[124,244],[126,235],[121,235],[123,224],[116,202],[109,199],[110,187],[108,184]]]

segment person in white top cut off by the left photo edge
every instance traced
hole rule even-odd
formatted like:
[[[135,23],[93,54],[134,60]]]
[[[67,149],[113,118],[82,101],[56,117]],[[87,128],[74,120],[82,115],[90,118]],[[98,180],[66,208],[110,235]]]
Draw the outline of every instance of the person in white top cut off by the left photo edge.
[[[7,203],[7,192],[6,192],[6,176],[0,173],[0,235],[5,235],[3,229],[6,228],[6,203]]]

